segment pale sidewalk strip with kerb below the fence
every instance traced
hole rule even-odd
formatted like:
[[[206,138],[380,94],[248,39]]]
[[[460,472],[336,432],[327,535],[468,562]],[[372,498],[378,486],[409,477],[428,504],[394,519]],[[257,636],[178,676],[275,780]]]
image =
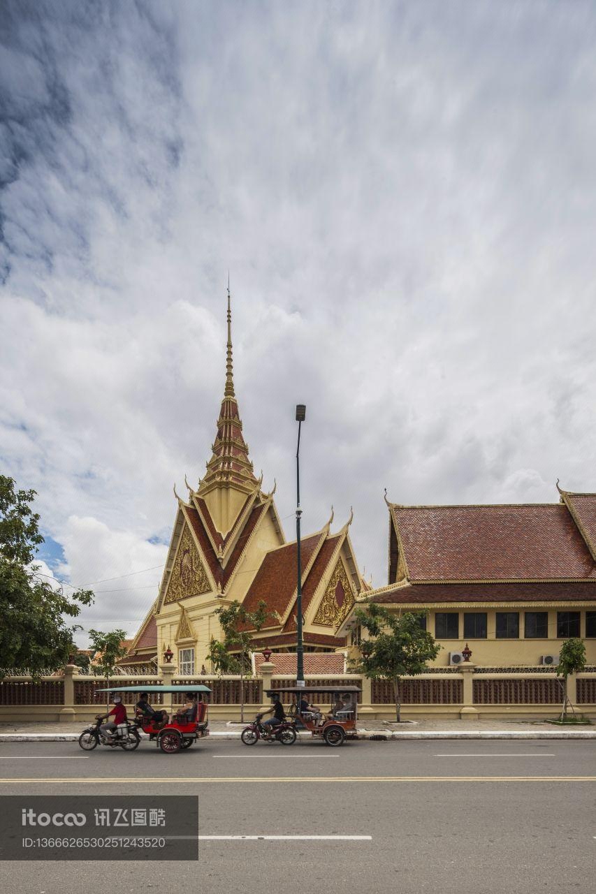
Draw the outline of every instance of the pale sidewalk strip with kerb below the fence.
[[[3,742],[73,742],[84,729],[84,723],[0,723],[0,744]],[[209,723],[209,738],[239,739],[240,723]],[[421,720],[395,723],[370,721],[359,727],[362,738],[373,739],[438,739],[438,738],[575,738],[596,739],[595,726],[551,726],[543,721],[445,721]],[[310,733],[304,734],[310,738]],[[301,736],[301,738],[302,738]]]

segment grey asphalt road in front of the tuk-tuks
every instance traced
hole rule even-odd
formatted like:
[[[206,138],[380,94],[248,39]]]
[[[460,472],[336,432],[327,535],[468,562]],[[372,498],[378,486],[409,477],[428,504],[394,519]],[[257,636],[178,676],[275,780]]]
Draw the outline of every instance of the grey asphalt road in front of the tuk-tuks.
[[[27,894],[594,890],[593,742],[0,746],[0,796],[153,792],[199,798],[199,862],[6,862],[4,880]],[[234,838],[246,835],[277,838]]]

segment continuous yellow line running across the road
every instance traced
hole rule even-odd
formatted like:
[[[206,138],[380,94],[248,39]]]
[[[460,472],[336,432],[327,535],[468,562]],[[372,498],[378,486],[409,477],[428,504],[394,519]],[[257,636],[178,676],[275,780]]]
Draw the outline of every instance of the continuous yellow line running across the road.
[[[258,782],[260,785],[275,782],[290,782],[302,785],[304,782],[596,782],[596,776],[180,776],[170,778],[155,778],[152,776],[113,776],[106,777],[14,777],[0,779],[0,785],[14,785],[15,783],[66,783],[72,782],[97,785],[119,785],[130,783],[149,782],[153,785],[189,785],[203,783],[224,782]]]

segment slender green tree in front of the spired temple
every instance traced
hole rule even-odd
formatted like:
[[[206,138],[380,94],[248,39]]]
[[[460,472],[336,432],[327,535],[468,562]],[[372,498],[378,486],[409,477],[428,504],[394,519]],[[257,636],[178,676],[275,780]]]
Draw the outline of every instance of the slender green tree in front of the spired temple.
[[[250,670],[251,631],[258,633],[268,620],[267,603],[261,599],[256,611],[247,611],[241,603],[234,602],[221,605],[216,614],[224,638],[211,639],[207,657],[217,673],[240,674],[240,719],[244,722],[244,676]]]

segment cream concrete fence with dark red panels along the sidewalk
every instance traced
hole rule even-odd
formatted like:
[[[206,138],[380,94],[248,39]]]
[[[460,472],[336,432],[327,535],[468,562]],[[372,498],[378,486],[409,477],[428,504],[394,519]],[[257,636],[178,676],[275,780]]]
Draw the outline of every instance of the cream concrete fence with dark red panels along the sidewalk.
[[[177,693],[158,693],[153,704],[168,711],[183,703],[186,689],[202,683],[212,691],[208,698],[209,716],[213,720],[239,720],[242,691],[244,717],[250,718],[267,703],[266,691],[294,685],[294,677],[276,673],[275,664],[261,665],[260,676],[241,679],[238,676],[217,677],[212,674],[182,677],[174,665],[161,665],[159,674],[126,676],[119,674],[109,681],[110,686],[134,686],[141,691],[158,683],[180,687]],[[325,677],[306,677],[307,686],[359,686],[359,715],[362,721],[390,720],[395,716],[393,684],[389,680],[370,680],[360,674],[328,674]],[[67,665],[60,676],[11,676],[0,680],[0,722],[71,721],[86,722],[104,710],[106,679],[80,673],[79,668]],[[576,709],[588,716],[596,716],[596,671],[591,669],[571,676],[567,694]],[[448,672],[428,672],[400,682],[399,696],[402,717],[454,718],[546,718],[555,716],[562,702],[563,690],[554,671],[537,673],[536,669],[495,671],[470,664]],[[132,705],[136,695],[126,693],[124,704]],[[289,704],[291,697],[284,694]],[[320,700],[319,700],[320,702]],[[324,703],[321,707],[326,707]]]

